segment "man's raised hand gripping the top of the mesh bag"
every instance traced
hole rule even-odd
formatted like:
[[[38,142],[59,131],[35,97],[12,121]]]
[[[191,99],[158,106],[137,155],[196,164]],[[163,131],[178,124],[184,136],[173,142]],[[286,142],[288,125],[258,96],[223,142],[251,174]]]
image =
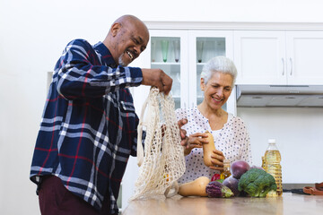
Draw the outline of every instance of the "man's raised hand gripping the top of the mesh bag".
[[[172,79],[161,69],[142,69],[142,73],[143,85],[157,87],[165,95],[170,93]]]

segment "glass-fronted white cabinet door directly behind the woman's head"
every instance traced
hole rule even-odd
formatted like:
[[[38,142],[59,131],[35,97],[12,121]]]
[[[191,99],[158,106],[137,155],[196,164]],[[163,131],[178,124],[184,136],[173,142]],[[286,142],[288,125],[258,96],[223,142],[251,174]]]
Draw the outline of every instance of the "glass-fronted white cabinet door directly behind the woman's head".
[[[231,30],[189,30],[188,32],[188,107],[194,107],[203,101],[200,89],[200,74],[205,63],[214,56],[227,56],[233,60]],[[230,103],[230,107],[229,104]],[[235,114],[235,98],[231,96],[223,107]]]

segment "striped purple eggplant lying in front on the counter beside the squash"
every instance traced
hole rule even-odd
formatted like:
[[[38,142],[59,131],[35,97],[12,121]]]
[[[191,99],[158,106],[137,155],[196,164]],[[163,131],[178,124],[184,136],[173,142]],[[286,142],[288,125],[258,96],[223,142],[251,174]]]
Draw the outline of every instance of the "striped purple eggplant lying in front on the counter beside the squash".
[[[234,195],[229,187],[217,181],[206,185],[205,192],[211,198],[229,198]]]

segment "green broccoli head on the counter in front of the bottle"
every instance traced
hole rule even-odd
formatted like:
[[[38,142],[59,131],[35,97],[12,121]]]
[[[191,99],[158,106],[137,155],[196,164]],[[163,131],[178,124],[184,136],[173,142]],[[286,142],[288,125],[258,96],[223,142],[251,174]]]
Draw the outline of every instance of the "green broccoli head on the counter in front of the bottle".
[[[239,180],[239,191],[249,193],[252,197],[266,197],[266,193],[276,190],[274,176],[259,168],[250,168]]]

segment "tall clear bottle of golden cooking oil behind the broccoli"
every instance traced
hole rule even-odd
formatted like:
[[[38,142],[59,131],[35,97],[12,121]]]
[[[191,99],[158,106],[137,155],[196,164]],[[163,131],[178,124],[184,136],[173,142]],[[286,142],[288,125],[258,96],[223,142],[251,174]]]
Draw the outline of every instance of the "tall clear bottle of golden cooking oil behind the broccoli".
[[[282,166],[280,164],[282,158],[275,144],[275,139],[269,139],[268,143],[269,144],[268,144],[268,148],[266,149],[265,159],[264,159],[265,170],[267,173],[275,177],[277,190],[276,190],[276,193],[274,193],[274,195],[276,194],[280,196],[283,194]],[[273,193],[271,193],[270,195],[273,195]]]

